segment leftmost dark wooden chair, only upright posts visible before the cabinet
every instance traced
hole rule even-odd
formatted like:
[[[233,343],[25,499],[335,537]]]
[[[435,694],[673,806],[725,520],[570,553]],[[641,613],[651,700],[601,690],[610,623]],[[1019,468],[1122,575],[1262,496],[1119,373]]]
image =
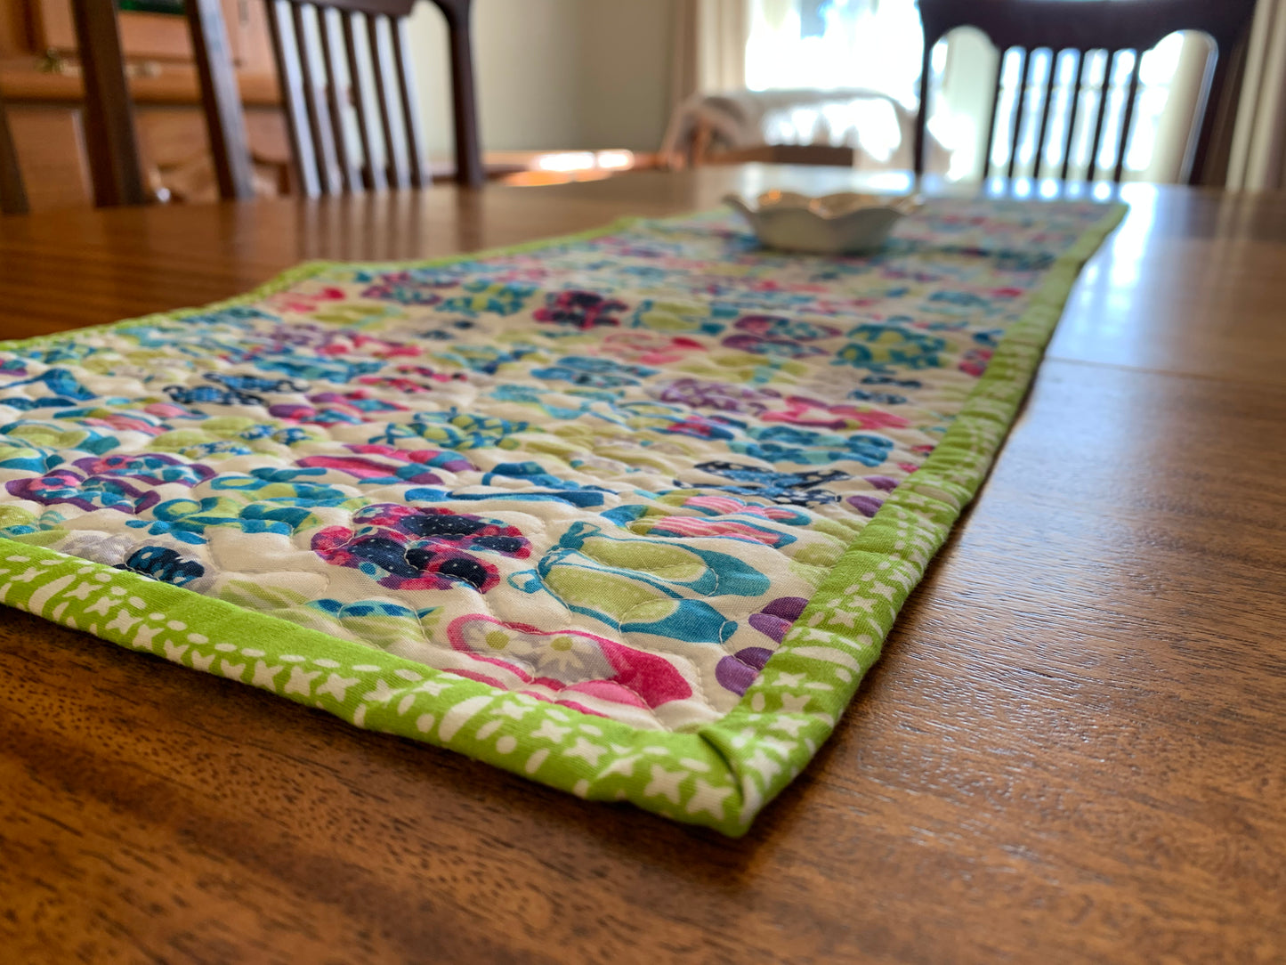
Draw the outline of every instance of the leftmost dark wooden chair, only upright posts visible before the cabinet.
[[[85,85],[85,140],[94,201],[99,207],[145,203],[148,192],[143,187],[116,4],[72,0],[72,19]],[[0,214],[26,212],[27,192],[0,104]]]

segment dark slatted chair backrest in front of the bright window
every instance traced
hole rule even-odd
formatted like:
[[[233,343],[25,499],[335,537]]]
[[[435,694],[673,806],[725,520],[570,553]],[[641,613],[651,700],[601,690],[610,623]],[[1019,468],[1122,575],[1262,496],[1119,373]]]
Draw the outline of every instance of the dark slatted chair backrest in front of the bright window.
[[[1020,76],[1017,102],[1013,108],[1012,130],[1010,133],[1010,161],[1006,174],[1013,176],[1017,160],[1017,144],[1024,134],[1035,127],[1037,176],[1067,178],[1071,165],[1073,135],[1082,130],[1078,118],[1084,115],[1080,125],[1091,122],[1094,113],[1093,136],[1089,153],[1088,180],[1094,180],[1100,170],[1107,171],[1111,179],[1119,181],[1124,172],[1125,153],[1138,100],[1139,59],[1175,31],[1201,31],[1214,41],[1214,50],[1206,62],[1204,94],[1197,103],[1197,136],[1190,139],[1184,153],[1182,175],[1197,183],[1210,154],[1217,111],[1227,95],[1224,87],[1229,78],[1229,62],[1238,41],[1249,32],[1254,17],[1255,0],[919,0],[919,14],[925,26],[925,59],[919,81],[919,116],[916,127],[916,172],[923,172],[925,124],[928,115],[930,57],[934,44],[957,27],[976,27],[1002,51],[1017,48],[1020,57]],[[1031,54],[1035,50],[1049,50],[1051,63],[1044,96],[1040,103],[1028,96]],[[1055,59],[1064,51],[1074,51],[1075,78],[1071,84],[1069,121],[1066,136],[1057,156],[1061,166],[1043,170],[1047,158],[1047,135],[1049,131],[1049,106],[1055,99],[1057,71]],[[1093,50],[1107,54],[1102,82],[1084,86],[1087,55]],[[1128,78],[1128,93],[1123,120],[1115,138],[1112,162],[1098,165],[1100,148],[1103,144],[1106,109],[1112,84],[1112,66],[1123,51],[1133,51],[1132,68]],[[1213,59],[1214,69],[1210,68]],[[992,109],[986,126],[986,153],[984,154],[984,176],[992,174],[992,147],[995,138],[997,107],[1001,100],[1002,85],[998,72],[995,91],[992,96]],[[1097,103],[1097,111],[1085,109],[1088,103]],[[1037,108],[1040,108],[1039,111]]]

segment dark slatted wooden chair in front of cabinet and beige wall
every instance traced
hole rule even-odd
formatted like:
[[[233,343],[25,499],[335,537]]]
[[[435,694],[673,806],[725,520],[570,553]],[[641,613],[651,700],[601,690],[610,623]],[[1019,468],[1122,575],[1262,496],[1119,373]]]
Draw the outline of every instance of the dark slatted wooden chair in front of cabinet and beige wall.
[[[406,39],[415,0],[265,1],[302,193],[428,187],[432,178]],[[455,178],[478,187],[482,158],[473,94],[472,0],[432,1],[446,18],[450,41]],[[249,198],[244,118],[220,4],[189,0],[186,6],[220,193]]]

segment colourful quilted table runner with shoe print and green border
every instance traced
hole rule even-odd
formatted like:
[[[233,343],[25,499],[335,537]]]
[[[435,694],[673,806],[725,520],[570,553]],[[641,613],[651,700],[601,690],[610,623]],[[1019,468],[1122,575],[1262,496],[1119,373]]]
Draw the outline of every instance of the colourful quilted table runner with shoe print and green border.
[[[630,221],[0,344],[0,602],[742,834],[1120,215],[937,201],[872,257]]]

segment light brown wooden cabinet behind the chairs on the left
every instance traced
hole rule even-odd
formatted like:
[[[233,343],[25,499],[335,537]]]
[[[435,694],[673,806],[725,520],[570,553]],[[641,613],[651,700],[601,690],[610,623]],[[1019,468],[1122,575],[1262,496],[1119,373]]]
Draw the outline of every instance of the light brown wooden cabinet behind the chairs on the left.
[[[289,139],[264,4],[222,3],[256,183],[261,193],[273,194],[285,185]],[[186,21],[136,12],[122,12],[120,18],[147,183],[162,198],[215,199]],[[0,0],[0,94],[9,106],[32,211],[91,205],[68,0]]]

